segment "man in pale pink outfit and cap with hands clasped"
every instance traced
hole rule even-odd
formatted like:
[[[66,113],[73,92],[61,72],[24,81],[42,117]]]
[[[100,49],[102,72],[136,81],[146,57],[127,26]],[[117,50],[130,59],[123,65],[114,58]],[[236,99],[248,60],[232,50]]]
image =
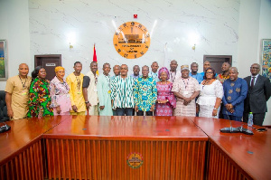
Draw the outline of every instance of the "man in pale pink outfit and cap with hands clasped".
[[[173,93],[177,98],[174,116],[192,116],[196,115],[195,98],[200,94],[201,86],[199,82],[189,77],[189,66],[181,66],[182,77],[173,82]]]

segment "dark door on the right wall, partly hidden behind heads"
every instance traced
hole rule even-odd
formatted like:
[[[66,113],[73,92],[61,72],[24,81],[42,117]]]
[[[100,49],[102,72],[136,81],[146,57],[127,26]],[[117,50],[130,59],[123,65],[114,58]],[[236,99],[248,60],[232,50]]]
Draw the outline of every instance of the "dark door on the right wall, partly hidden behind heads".
[[[221,66],[223,62],[229,62],[231,65],[232,56],[231,55],[203,55],[203,63],[210,62],[210,67],[212,67],[217,74],[222,73]],[[204,70],[203,70],[204,71]]]

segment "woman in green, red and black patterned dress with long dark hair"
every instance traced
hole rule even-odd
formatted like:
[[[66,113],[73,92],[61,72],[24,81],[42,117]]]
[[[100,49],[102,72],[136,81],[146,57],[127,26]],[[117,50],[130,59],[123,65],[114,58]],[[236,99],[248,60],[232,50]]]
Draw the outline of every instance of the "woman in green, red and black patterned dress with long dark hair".
[[[32,82],[29,90],[27,118],[42,118],[52,116],[49,82],[45,80],[46,70],[37,66],[32,72]]]

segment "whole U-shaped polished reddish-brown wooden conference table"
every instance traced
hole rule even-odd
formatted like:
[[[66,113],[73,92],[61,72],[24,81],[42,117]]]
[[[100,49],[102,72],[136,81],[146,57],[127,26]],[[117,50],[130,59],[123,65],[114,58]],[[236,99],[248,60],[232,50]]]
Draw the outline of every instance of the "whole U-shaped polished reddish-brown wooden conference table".
[[[58,116],[7,124],[0,179],[271,179],[270,130],[220,133],[225,119]]]

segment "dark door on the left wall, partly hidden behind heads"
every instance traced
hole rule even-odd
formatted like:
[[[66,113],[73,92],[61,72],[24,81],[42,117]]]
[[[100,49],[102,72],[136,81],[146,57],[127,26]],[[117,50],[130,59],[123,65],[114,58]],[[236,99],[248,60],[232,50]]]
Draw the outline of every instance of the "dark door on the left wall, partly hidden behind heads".
[[[51,81],[54,76],[54,68],[61,66],[61,54],[35,55],[35,67],[42,66],[46,70],[46,80]]]

